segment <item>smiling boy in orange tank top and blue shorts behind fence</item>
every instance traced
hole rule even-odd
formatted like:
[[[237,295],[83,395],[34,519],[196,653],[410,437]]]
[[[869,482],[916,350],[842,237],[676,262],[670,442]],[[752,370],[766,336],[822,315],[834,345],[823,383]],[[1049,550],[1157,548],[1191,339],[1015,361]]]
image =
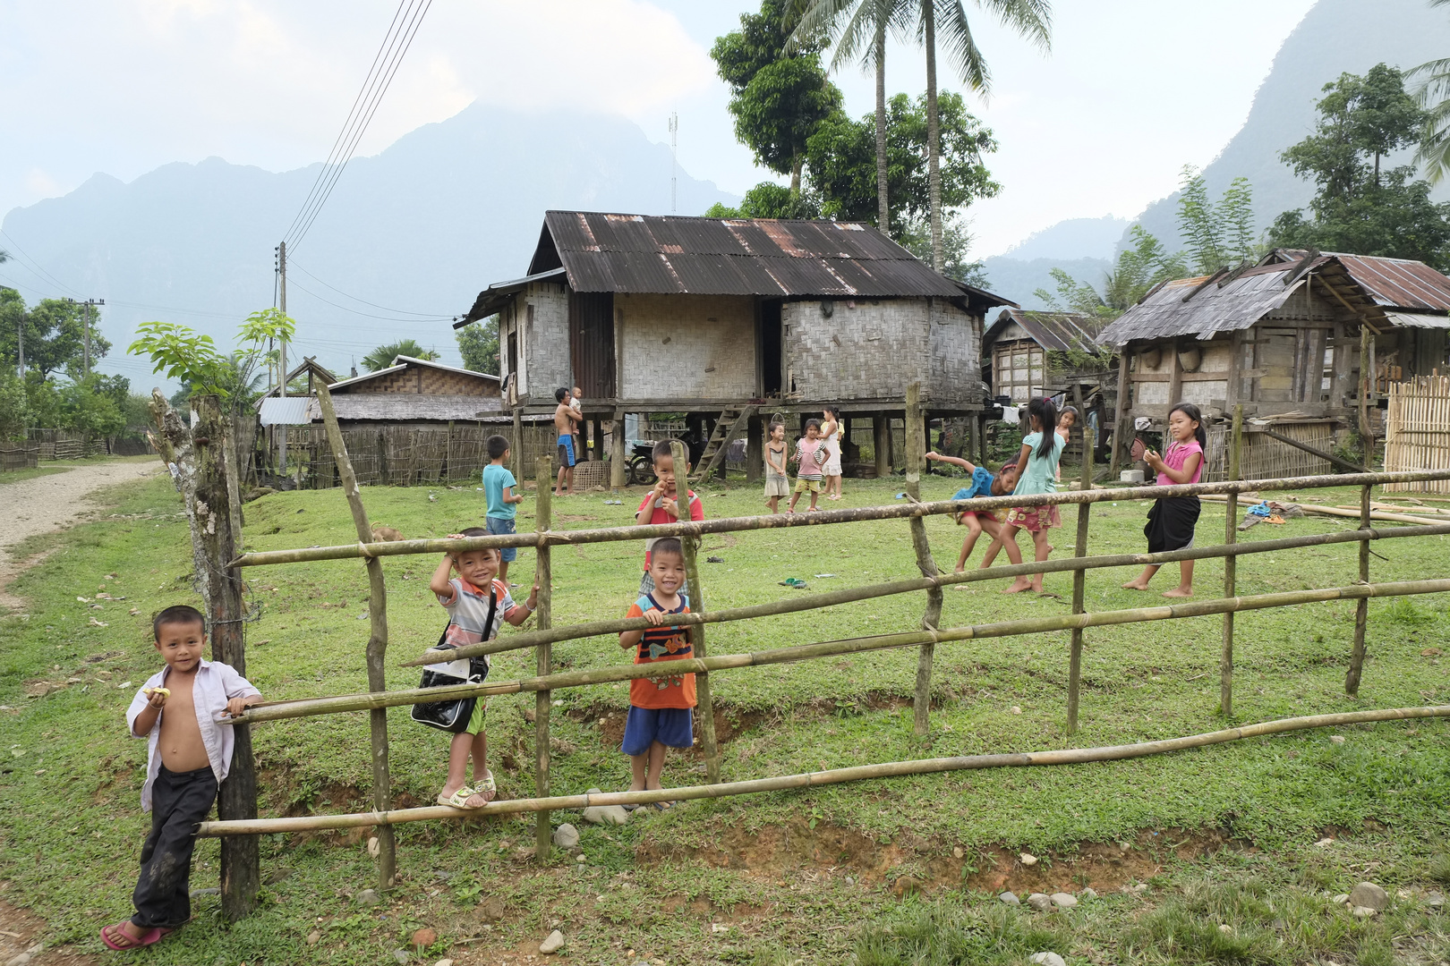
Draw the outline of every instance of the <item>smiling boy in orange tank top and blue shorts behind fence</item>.
[[[619,646],[635,649],[637,665],[690,658],[689,631],[679,626],[664,626],[668,614],[690,613],[684,597],[684,550],[679,540],[664,537],[654,542],[650,576],[652,589],[639,595],[626,617],[644,617],[651,627],[621,633]],[[629,756],[629,791],[663,788],[660,773],[664,770],[664,750],[695,744],[693,707],[693,673],[664,673],[629,682],[629,717],[625,720],[625,739],[619,747]],[[674,802],[654,802],[654,808],[660,811],[673,805]]]

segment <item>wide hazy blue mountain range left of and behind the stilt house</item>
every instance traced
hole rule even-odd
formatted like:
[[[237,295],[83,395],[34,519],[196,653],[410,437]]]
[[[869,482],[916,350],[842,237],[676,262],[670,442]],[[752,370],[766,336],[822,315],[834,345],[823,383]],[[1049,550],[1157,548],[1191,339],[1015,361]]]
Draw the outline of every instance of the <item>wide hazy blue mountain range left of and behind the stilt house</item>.
[[[97,368],[149,387],[160,381],[149,365],[123,358],[135,326],[180,322],[229,348],[238,323],[273,304],[273,249],[320,168],[277,174],[207,158],[129,184],[97,174],[4,217],[14,239],[6,248],[20,251],[3,271],[32,304],[104,298],[115,348]],[[668,146],[626,119],[478,103],[354,158],[289,246],[296,358],[347,372],[374,346],[410,336],[457,364],[450,317],[489,282],[525,272],[545,209],[668,214],[671,168]],[[679,211],[716,201],[738,197],[679,172]],[[23,271],[32,262],[54,282]]]

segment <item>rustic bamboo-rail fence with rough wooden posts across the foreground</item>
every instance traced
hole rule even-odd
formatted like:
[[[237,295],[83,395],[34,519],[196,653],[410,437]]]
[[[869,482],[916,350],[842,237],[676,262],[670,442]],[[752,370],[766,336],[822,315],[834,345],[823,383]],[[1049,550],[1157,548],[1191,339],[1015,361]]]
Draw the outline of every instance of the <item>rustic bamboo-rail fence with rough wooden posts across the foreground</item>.
[[[915,388],[915,387],[914,387]],[[325,394],[323,394],[325,398]],[[331,420],[331,400],[325,400],[323,411]],[[336,424],[329,430],[335,437],[341,437]],[[1230,448],[1230,475],[1237,475],[1241,433],[1235,432]],[[1322,724],[1340,723],[1344,715],[1321,715],[1318,718],[1295,718],[1290,721],[1270,723],[1264,726],[1250,726],[1231,728],[1205,736],[1190,736],[1173,739],[1170,742],[1153,742],[1141,746],[1118,746],[1112,749],[1079,749],[1074,752],[1047,752],[1035,755],[1012,756],[969,756],[964,759],[931,759],[925,762],[890,762],[856,769],[837,769],[832,772],[818,772],[813,775],[777,776],[753,782],[724,784],[721,776],[719,749],[715,740],[715,717],[712,713],[712,697],[709,678],[712,673],[732,672],[737,669],[763,666],[783,662],[812,660],[835,658],[847,653],[869,653],[893,647],[916,647],[916,678],[915,678],[915,718],[914,727],[918,734],[924,734],[929,726],[929,692],[932,676],[932,660],[938,644],[974,640],[982,637],[1002,637],[1012,634],[1035,634],[1048,631],[1070,631],[1067,649],[1067,692],[1066,692],[1066,726],[1072,734],[1077,727],[1079,698],[1082,684],[1082,647],[1083,633],[1090,627],[1127,624],[1156,620],[1180,620],[1186,617],[1204,617],[1218,614],[1224,621],[1224,642],[1219,656],[1219,708],[1225,715],[1232,714],[1232,662],[1234,662],[1234,614],[1238,611],[1263,610],[1272,607],[1290,607],[1306,602],[1354,600],[1356,624],[1353,647],[1347,660],[1344,688],[1348,694],[1356,694],[1360,684],[1360,673],[1364,662],[1364,631],[1367,624],[1367,604],[1372,597],[1399,597],[1409,594],[1443,594],[1450,592],[1450,579],[1427,578],[1420,581],[1404,581],[1393,584],[1369,582],[1369,542],[1396,537],[1415,537],[1450,533],[1450,523],[1430,521],[1425,524],[1401,526],[1393,529],[1372,527],[1370,517],[1370,488],[1373,485],[1411,482],[1421,479],[1450,479],[1450,469],[1431,469],[1399,474],[1351,474],[1343,476],[1296,476],[1277,479],[1241,481],[1230,479],[1212,484],[1190,484],[1176,487],[1138,487],[1093,490],[1079,488],[1073,491],[1040,494],[1031,497],[987,497],[967,501],[919,501],[919,474],[924,466],[925,424],[921,416],[916,394],[908,395],[908,419],[905,420],[905,449],[908,475],[905,490],[909,501],[884,507],[861,507],[850,510],[826,510],[815,514],[786,514],[735,517],[703,521],[682,521],[658,526],[626,526],[596,530],[554,530],[552,508],[550,500],[550,478],[552,466],[547,458],[536,462],[538,505],[536,530],[534,533],[518,533],[505,536],[471,537],[467,540],[405,540],[396,543],[351,543],[332,547],[306,547],[294,550],[268,550],[244,553],[229,566],[264,566],[277,563],[296,563],[303,560],[328,559],[358,559],[368,565],[368,576],[373,584],[370,597],[370,617],[373,620],[373,636],[368,646],[368,676],[370,691],[352,695],[332,695],[320,698],[306,698],[297,701],[278,701],[254,705],[244,715],[235,718],[236,723],[262,723],[281,718],[309,717],[318,714],[338,714],[348,711],[370,711],[373,736],[373,760],[383,762],[381,773],[374,773],[374,810],[371,812],[351,815],[306,815],[296,818],[249,818],[203,823],[199,828],[202,836],[245,836],[270,831],[287,831],[300,828],[344,828],[357,826],[377,826],[380,828],[380,879],[383,888],[392,885],[392,870],[396,868],[393,853],[393,839],[390,828],[402,821],[420,820],[452,820],[468,818],[477,814],[500,811],[534,811],[536,820],[536,857],[547,862],[550,856],[550,811],[555,808],[579,808],[587,804],[639,804],[650,801],[664,801],[673,798],[703,798],[735,794],[751,794],[770,788],[796,788],[834,781],[856,781],[864,778],[880,778],[884,775],[922,773],[929,770],[951,770],[956,768],[989,768],[1002,765],[1044,765],[1063,763],[1070,760],[1109,760],[1114,757],[1132,757],[1137,755],[1159,753],[1177,747],[1196,747],[1222,740],[1234,740],[1254,733],[1272,733],[1275,730],[1293,730],[1298,727],[1318,727]],[[683,459],[683,452],[676,456]],[[1090,453],[1089,472],[1090,479]],[[344,481],[351,481],[348,453],[339,453],[338,471]],[[1253,543],[1235,543],[1237,534],[1237,500],[1238,494],[1260,490],[1314,490],[1322,487],[1360,487],[1360,516],[1359,529],[1321,533],[1280,540],[1264,540]],[[352,505],[352,514],[360,521],[358,532],[365,539],[365,511],[355,487],[347,485],[345,491]],[[1227,523],[1225,542],[1222,545],[1198,546],[1167,553],[1128,553],[1111,556],[1088,556],[1089,514],[1092,504],[1103,500],[1151,500],[1176,495],[1206,495],[1227,494]],[[942,574],[931,556],[927,543],[924,518],[927,516],[948,514],[960,510],[1000,510],[1011,505],[1076,505],[1077,507],[1077,543],[1074,555],[1069,559],[1028,562],[1015,566],[992,568],[989,571],[969,571],[964,574]],[[740,533],[747,530],[767,530],[780,527],[816,527],[850,524],[863,520],[905,520],[908,523],[919,578],[873,584],[857,588],[847,588],[829,594],[793,595],[768,604],[751,607],[737,607],[728,610],[709,610],[706,600],[708,588],[702,581],[697,566],[697,549],[700,537],[708,533]],[[618,665],[590,671],[557,671],[552,662],[551,646],[561,640],[594,637],[600,634],[618,634],[624,630],[639,630],[647,626],[644,618],[603,620],[568,627],[552,627],[552,556],[554,546],[577,546],[581,543],[603,543],[619,540],[639,540],[647,537],[677,536],[684,546],[686,574],[690,584],[690,604],[695,613],[680,616],[679,623],[687,627],[695,658],[671,665],[679,672],[695,672],[697,678],[699,720],[702,746],[706,765],[706,785],[697,788],[674,788],[655,792],[618,792],[606,795],[571,795],[552,797],[550,794],[550,711],[551,694],[554,689],[586,686],[599,682],[622,682],[641,676],[658,673],[651,671],[651,665]],[[1235,587],[1237,556],[1243,553],[1283,552],[1295,547],[1322,546],[1330,543],[1359,543],[1359,582],[1346,587],[1317,588],[1292,591],[1282,594],[1259,594],[1241,597]],[[510,634],[505,639],[494,639],[478,644],[447,652],[447,658],[463,658],[477,653],[497,653],[502,650],[534,649],[536,653],[536,675],[518,681],[489,681],[480,685],[458,685],[454,688],[386,691],[381,685],[381,659],[387,643],[387,614],[386,594],[381,592],[381,565],[386,556],[460,552],[467,549],[532,546],[536,552],[539,598],[536,630],[522,634]],[[1146,563],[1167,563],[1173,560],[1225,558],[1224,597],[1212,600],[1180,601],[1154,607],[1088,613],[1085,607],[1085,578],[1086,571],[1096,568],[1143,566]],[[568,555],[564,556],[568,559]],[[1072,614],[1038,617],[1025,620],[996,621],[986,624],[941,627],[942,588],[954,584],[966,584],[982,579],[1000,579],[1035,572],[1073,572],[1073,601]],[[763,652],[741,655],[710,656],[706,649],[706,627],[712,623],[755,620],[774,614],[784,614],[819,607],[831,607],[851,601],[870,600],[892,594],[925,592],[925,610],[921,623],[914,630],[905,630],[870,637],[854,637],[847,640],[829,640],[812,644],[777,647]],[[442,659],[441,652],[425,652],[405,660],[406,666],[416,666]],[[442,807],[393,810],[390,801],[390,778],[386,770],[389,760],[387,717],[386,708],[392,705],[416,704],[422,701],[438,701],[451,697],[534,692],[535,702],[535,798],[494,802],[486,810],[452,810]],[[1428,717],[1450,715],[1450,707],[1444,708],[1408,708],[1357,713],[1367,714],[1363,720],[1389,720],[1396,717]],[[1346,718],[1348,720],[1348,718]],[[990,759],[990,760],[987,760]]]

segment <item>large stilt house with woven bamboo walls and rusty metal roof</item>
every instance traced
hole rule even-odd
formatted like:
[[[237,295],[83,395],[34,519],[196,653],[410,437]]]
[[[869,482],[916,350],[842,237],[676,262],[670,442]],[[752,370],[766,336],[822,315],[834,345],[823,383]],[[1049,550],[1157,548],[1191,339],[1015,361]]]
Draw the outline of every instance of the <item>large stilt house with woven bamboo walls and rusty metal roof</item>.
[[[483,290],[458,326],[499,317],[515,414],[551,413],[579,385],[596,439],[625,414],[713,424],[703,474],[742,433],[754,469],[774,413],[834,404],[880,439],[912,382],[932,417],[980,413],[983,316],[1003,304],[867,224],[548,211],[526,274]]]

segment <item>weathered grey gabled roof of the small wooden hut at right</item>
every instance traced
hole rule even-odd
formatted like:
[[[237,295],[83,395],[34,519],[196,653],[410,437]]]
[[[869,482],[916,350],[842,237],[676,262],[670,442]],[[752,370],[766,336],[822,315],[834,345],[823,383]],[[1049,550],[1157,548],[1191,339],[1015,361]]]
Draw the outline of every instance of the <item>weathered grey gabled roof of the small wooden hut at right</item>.
[[[1306,269],[1306,271],[1305,271]],[[1340,300],[1385,323],[1383,310],[1351,278],[1338,256],[1321,255],[1306,266],[1296,262],[1259,265],[1238,274],[1179,278],[1150,291],[1115,319],[1098,340],[1124,346],[1134,339],[1195,336],[1212,339],[1221,332],[1247,329],[1289,300],[1312,277]]]

